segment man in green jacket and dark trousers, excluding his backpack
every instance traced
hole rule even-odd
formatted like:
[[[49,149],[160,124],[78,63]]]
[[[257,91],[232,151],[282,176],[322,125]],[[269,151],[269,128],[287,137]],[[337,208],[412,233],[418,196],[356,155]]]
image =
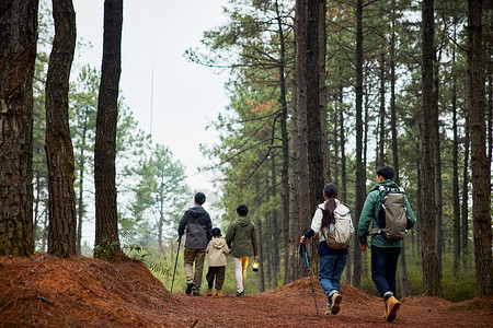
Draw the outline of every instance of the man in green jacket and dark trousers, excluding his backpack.
[[[370,223],[374,229],[378,227],[378,218],[381,207],[380,186],[386,188],[399,188],[392,178],[393,169],[391,167],[383,166],[377,169],[377,184],[368,194],[365,206],[363,207],[362,215],[359,216],[359,248],[363,251],[365,251],[367,247],[366,236],[368,235]],[[405,229],[409,230],[416,222],[416,218],[411,210],[408,198],[404,197],[404,200],[408,216]],[[400,303],[395,298],[395,271],[402,245],[402,241],[390,239],[381,233],[371,235],[371,279],[374,280],[378,293],[383,297],[386,303],[383,317],[389,323],[395,319],[397,311],[400,307]]]

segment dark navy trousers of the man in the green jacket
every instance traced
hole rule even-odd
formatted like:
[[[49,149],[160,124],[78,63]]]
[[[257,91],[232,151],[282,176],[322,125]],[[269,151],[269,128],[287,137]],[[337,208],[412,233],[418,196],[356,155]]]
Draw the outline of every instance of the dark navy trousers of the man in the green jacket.
[[[382,297],[390,293],[395,295],[395,271],[400,254],[400,247],[383,248],[371,245],[371,279]]]

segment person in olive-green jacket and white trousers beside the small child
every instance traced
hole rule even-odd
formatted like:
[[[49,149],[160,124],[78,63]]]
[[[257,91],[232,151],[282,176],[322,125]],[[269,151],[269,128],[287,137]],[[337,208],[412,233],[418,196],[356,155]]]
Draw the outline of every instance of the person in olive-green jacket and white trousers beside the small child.
[[[246,216],[249,208],[245,204],[240,204],[237,208],[237,213],[238,219],[229,225],[226,233],[226,243],[231,248],[231,255],[234,258],[234,277],[238,290],[236,296],[244,296],[246,267],[252,254],[253,259],[256,260],[256,234],[255,226]]]

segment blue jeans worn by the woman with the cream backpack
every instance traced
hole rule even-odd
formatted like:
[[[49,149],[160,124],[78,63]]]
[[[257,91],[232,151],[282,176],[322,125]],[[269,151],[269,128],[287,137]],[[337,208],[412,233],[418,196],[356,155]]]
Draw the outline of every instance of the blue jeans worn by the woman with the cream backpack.
[[[331,296],[341,290],[341,274],[346,266],[347,255],[321,255],[319,258],[319,283],[323,292]]]

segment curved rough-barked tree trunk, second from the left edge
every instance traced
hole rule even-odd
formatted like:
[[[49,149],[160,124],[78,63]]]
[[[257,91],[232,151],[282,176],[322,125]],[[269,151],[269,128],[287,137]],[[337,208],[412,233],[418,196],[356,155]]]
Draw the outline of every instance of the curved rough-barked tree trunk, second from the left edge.
[[[48,165],[48,254],[76,255],[74,159],[68,91],[76,50],[76,12],[71,0],[53,0],[55,39],[46,78],[46,161]]]

